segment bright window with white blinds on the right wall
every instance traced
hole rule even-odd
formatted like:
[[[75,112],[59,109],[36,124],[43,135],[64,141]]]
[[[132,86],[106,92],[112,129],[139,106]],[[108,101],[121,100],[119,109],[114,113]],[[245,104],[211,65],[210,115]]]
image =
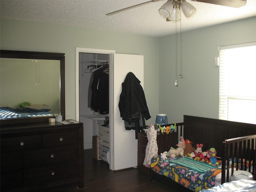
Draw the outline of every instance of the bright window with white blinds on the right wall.
[[[219,119],[256,124],[256,42],[222,46]]]

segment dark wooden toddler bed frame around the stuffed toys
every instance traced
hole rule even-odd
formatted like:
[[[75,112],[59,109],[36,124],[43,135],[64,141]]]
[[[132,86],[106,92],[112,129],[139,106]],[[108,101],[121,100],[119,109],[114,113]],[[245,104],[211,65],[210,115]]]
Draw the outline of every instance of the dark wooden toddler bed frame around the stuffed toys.
[[[204,144],[203,150],[208,150],[211,147],[216,148],[217,156],[221,158],[222,162],[230,158],[234,159],[234,157],[240,160],[242,158],[252,160],[253,164],[251,166],[253,168],[251,170],[251,166],[249,166],[249,171],[253,173],[254,180],[256,180],[256,124],[184,115],[184,122],[178,123],[176,132],[169,134],[169,139],[171,141],[177,141],[178,139],[179,141],[180,136],[192,142]],[[173,147],[177,144],[177,142],[169,143]],[[169,150],[171,147],[163,145],[166,145],[166,143],[160,143],[158,149],[166,148],[166,150]],[[159,154],[160,152],[163,151],[158,150]],[[242,169],[246,170],[246,167],[242,167]],[[222,183],[229,182],[229,172],[223,170],[225,170],[225,164],[222,165]],[[235,170],[238,170],[238,166],[232,168],[232,174]],[[150,170],[150,180],[157,180],[180,191],[191,192],[188,188],[152,170]]]

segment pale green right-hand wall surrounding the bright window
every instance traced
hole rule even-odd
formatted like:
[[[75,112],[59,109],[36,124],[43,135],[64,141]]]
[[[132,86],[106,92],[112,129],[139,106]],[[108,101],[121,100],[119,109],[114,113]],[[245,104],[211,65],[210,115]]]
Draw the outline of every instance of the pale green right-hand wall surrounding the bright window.
[[[218,119],[219,68],[214,65],[218,46],[255,41],[256,17],[184,32],[182,63],[185,78],[177,78],[176,87],[175,35],[161,37],[159,112],[168,114],[169,122],[182,122],[184,114]],[[245,75],[241,74],[241,77]]]

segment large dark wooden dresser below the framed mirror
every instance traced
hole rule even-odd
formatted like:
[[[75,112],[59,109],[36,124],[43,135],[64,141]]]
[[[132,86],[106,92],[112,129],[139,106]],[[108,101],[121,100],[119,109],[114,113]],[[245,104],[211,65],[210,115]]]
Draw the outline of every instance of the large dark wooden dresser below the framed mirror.
[[[1,192],[84,188],[83,124],[1,126]]]

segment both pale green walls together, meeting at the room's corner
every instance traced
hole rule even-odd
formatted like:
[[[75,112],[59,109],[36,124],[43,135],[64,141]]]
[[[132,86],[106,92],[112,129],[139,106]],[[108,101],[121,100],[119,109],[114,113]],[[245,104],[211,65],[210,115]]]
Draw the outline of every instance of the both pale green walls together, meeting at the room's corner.
[[[144,92],[154,123],[183,115],[218,118],[218,46],[256,41],[256,17],[182,33],[185,78],[175,81],[175,35],[160,38],[38,22],[1,19],[0,48],[66,54],[66,118],[75,119],[75,48],[144,55]],[[178,63],[178,66],[180,64]],[[180,74],[178,70],[178,74]],[[245,74],[241,74],[245,75]]]

